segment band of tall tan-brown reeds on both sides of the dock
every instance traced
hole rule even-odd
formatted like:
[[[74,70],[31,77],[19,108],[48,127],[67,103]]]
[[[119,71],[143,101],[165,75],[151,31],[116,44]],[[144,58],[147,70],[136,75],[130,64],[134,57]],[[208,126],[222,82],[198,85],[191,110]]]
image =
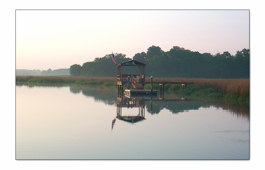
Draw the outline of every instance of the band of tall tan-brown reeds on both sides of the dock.
[[[39,82],[39,83],[75,83],[76,81],[94,81],[98,84],[116,85],[115,77],[72,77],[72,76],[16,76],[16,82]],[[150,77],[146,78],[150,81]],[[187,79],[187,78],[154,78],[154,82],[194,82],[198,89],[215,89],[220,93],[250,93],[249,79]],[[147,86],[147,85],[145,85]],[[191,85],[189,85],[191,86]],[[159,87],[159,86],[157,86]],[[165,89],[178,90],[176,85],[165,85]]]

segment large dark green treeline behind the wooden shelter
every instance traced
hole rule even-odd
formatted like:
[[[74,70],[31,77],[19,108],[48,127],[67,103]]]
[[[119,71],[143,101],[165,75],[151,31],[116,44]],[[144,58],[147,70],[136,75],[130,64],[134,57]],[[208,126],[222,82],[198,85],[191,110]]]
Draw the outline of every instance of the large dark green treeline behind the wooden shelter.
[[[237,51],[231,55],[228,51],[212,55],[186,50],[173,46],[164,52],[159,46],[151,46],[147,52],[137,53],[133,58],[125,54],[115,53],[117,63],[137,60],[147,64],[146,76],[153,77],[183,77],[183,78],[214,78],[235,79],[250,77],[249,49]],[[125,68],[128,73],[135,73],[133,68]],[[125,71],[125,69],[123,71]],[[130,70],[129,70],[130,69]],[[70,75],[85,77],[115,77],[117,66],[112,62],[112,54],[95,58],[94,61],[74,64],[70,67]]]

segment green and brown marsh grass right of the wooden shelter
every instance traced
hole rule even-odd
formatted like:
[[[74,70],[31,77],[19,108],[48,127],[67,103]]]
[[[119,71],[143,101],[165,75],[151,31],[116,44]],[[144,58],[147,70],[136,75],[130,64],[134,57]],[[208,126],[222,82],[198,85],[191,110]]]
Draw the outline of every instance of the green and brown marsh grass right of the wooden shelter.
[[[150,81],[150,78],[146,78]],[[243,107],[250,106],[250,80],[249,79],[185,79],[185,78],[154,78],[154,82],[192,82],[182,90],[180,84],[165,84],[164,89],[180,96],[192,96],[200,100],[223,101]],[[144,89],[151,89],[146,84]],[[158,84],[153,89],[159,90]]]

